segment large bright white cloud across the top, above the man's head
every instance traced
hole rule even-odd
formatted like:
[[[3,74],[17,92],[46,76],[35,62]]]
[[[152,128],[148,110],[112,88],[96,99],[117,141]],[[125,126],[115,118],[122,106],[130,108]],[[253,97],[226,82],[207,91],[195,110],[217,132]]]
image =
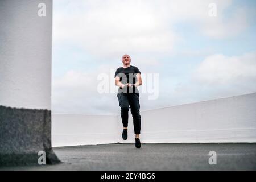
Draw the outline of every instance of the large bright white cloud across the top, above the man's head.
[[[175,23],[192,23],[213,38],[235,36],[246,27],[244,10],[224,18],[232,1],[57,1],[53,10],[53,43],[75,43],[86,52],[116,57],[123,52],[171,53],[181,37]]]

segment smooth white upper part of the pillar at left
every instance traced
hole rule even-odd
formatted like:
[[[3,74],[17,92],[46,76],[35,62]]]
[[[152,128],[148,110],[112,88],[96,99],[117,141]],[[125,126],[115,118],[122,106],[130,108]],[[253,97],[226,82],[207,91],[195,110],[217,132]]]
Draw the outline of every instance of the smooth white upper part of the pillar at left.
[[[52,1],[3,0],[0,17],[0,105],[50,110]]]

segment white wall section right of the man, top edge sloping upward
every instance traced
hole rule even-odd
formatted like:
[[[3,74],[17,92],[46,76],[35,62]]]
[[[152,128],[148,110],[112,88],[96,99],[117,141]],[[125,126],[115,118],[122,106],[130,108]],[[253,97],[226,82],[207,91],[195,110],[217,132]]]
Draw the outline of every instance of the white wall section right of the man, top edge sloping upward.
[[[256,93],[144,111],[144,142],[256,142]]]

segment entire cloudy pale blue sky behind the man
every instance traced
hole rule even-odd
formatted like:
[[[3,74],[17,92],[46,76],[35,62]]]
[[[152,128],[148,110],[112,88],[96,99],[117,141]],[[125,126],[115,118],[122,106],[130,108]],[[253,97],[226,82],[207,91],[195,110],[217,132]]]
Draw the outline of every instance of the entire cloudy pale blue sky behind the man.
[[[53,1],[52,112],[117,115],[124,54],[141,111],[256,92],[256,1]]]

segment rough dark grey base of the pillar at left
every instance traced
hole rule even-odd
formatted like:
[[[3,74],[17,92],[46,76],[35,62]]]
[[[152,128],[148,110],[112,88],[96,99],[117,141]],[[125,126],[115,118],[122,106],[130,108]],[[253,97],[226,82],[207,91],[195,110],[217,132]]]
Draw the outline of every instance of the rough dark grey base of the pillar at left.
[[[59,162],[51,147],[51,111],[0,106],[0,166]]]

